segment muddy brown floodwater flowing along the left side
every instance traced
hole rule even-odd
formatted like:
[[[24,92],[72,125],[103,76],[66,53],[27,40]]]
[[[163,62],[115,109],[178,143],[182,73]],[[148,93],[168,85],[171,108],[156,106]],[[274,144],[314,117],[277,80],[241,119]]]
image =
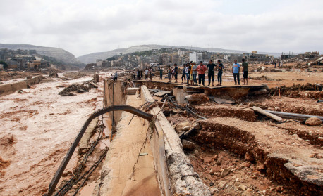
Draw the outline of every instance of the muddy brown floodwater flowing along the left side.
[[[0,195],[44,193],[87,117],[102,107],[102,82],[89,92],[59,96],[63,87],[92,79],[59,76],[0,97]]]

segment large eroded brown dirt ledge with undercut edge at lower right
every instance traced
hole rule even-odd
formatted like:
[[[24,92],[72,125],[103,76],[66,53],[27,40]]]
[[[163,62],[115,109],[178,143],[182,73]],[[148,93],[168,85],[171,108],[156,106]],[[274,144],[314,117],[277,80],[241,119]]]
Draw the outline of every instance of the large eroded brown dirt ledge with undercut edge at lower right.
[[[204,148],[231,150],[269,178],[303,194],[322,191],[322,150],[297,135],[262,122],[234,118],[207,119],[200,124],[202,131],[192,138]]]

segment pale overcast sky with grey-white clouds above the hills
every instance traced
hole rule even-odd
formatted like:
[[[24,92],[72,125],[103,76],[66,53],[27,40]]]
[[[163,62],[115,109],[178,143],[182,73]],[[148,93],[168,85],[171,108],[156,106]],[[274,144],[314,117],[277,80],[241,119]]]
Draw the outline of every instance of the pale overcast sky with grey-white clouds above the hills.
[[[0,0],[0,43],[76,57],[142,44],[323,53],[322,0]]]

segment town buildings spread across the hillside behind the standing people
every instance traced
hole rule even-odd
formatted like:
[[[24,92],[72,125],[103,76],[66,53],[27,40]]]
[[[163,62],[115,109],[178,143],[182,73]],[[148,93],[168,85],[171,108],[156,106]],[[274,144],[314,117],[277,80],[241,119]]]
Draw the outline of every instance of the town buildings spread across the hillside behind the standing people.
[[[87,64],[85,70],[102,70],[106,68],[145,68],[157,66],[173,66],[174,64],[183,66],[188,62],[208,63],[209,59],[221,60],[223,63],[233,63],[234,60],[241,62],[244,58],[249,63],[264,65],[284,65],[284,63],[305,64],[307,61],[315,61],[319,58],[319,52],[305,52],[297,55],[289,52],[282,52],[280,56],[260,54],[257,51],[250,53],[214,53],[207,51],[192,51],[185,48],[162,48],[151,51],[142,51],[128,54],[114,55],[105,60],[97,59],[95,63]],[[321,60],[317,61],[317,65]]]

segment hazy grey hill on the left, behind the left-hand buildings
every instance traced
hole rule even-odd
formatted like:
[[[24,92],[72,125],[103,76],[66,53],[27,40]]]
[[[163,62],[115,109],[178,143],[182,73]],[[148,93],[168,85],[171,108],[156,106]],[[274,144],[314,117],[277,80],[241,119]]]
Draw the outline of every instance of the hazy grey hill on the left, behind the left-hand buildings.
[[[85,66],[82,62],[80,62],[80,60],[75,58],[72,53],[61,48],[33,46],[28,44],[0,44],[0,48],[8,48],[11,50],[36,50],[37,54],[56,58],[57,61],[66,65],[75,65],[79,67]]]

